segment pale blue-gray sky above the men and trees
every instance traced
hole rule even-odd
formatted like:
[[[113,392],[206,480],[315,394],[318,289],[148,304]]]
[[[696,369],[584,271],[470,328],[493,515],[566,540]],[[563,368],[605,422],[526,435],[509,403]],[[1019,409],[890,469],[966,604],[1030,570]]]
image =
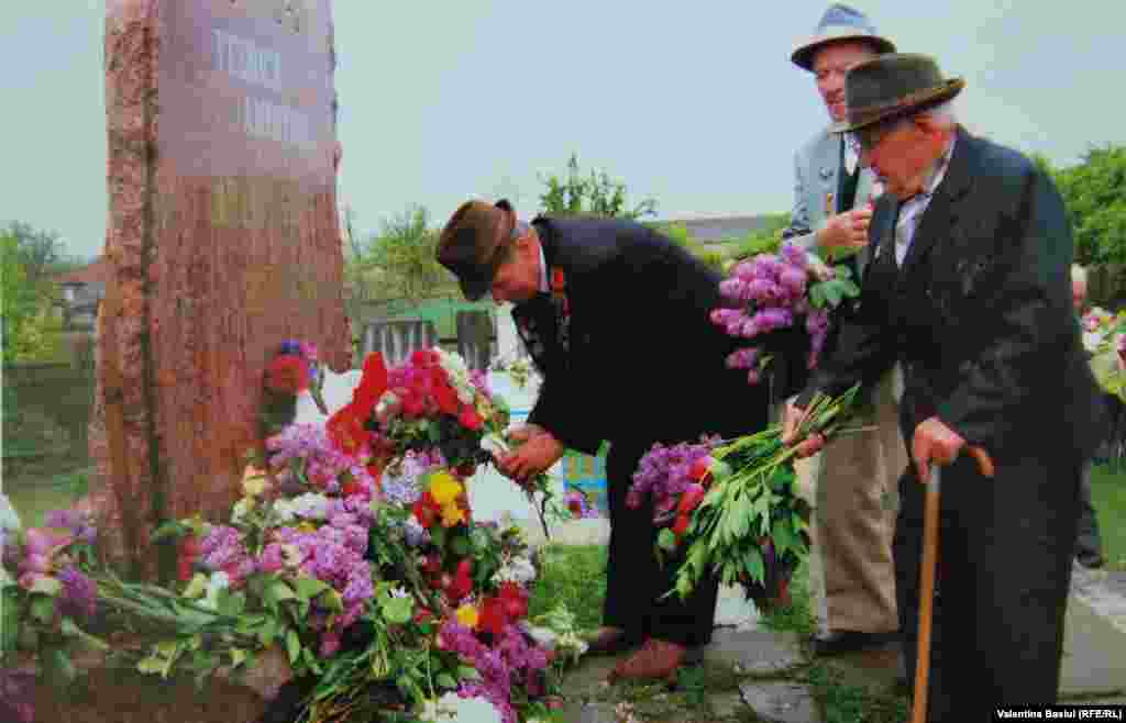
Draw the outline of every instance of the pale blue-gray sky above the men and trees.
[[[441,225],[471,197],[530,216],[575,153],[661,218],[788,210],[794,151],[828,123],[789,54],[828,4],[334,0],[338,201],[365,235],[414,205]],[[972,132],[1057,165],[1126,143],[1126,2],[855,6],[966,80]],[[0,3],[0,224],[84,257],[108,208],[104,27],[105,0]]]

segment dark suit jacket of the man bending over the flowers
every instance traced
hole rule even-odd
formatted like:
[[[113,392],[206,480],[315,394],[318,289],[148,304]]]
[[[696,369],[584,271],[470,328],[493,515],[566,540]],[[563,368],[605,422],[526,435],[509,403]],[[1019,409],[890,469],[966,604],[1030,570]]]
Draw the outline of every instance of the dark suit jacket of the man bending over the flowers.
[[[744,371],[726,368],[738,340],[709,319],[722,304],[718,274],[641,224],[533,224],[548,268],[565,273],[571,325],[564,351],[549,301],[513,309],[517,325],[533,322],[543,344],[530,350],[544,383],[529,422],[588,453],[602,440],[647,446],[766,424],[766,386],[751,387]]]

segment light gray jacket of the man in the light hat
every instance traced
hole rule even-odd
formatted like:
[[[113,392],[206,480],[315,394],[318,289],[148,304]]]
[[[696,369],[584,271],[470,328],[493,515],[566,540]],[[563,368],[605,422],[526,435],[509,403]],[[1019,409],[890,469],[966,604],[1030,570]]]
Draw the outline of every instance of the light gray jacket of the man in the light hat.
[[[841,208],[841,144],[843,136],[819,132],[794,154],[794,210],[790,213],[786,237],[803,248],[817,251],[816,232],[824,227],[829,217],[849,210]],[[856,200],[867,202],[876,180],[870,169],[860,171],[857,181]],[[868,250],[857,254],[857,263],[863,272],[868,261]]]

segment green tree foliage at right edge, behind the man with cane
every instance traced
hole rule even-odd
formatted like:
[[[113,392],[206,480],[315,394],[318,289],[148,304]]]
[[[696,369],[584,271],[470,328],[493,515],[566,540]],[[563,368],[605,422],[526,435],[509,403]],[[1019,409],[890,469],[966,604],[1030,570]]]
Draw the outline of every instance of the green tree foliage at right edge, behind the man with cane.
[[[1091,148],[1079,164],[1054,169],[1043,155],[1034,162],[1060,189],[1071,219],[1075,261],[1126,263],[1126,146]]]

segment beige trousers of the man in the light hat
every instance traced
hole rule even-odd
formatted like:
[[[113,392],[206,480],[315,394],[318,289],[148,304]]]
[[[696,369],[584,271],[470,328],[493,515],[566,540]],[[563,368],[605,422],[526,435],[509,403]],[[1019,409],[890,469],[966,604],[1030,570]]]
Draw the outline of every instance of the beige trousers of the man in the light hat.
[[[908,464],[896,405],[901,390],[896,367],[874,390],[874,409],[847,423],[876,428],[837,436],[803,470],[814,500],[811,598],[825,632],[899,629],[892,535],[899,478]]]

